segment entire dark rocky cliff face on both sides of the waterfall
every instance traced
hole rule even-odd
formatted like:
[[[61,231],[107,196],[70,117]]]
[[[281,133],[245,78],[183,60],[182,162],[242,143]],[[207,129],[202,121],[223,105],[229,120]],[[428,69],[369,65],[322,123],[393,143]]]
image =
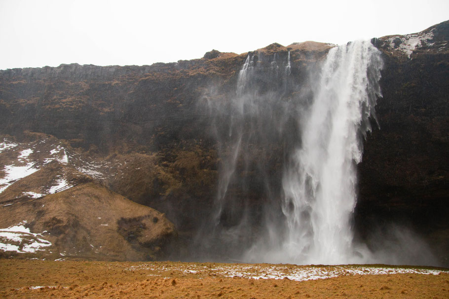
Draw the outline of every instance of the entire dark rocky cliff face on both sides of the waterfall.
[[[376,106],[380,128],[374,125],[364,142],[354,216],[360,238],[368,238],[374,226],[391,220],[412,223],[430,239],[446,242],[446,252],[441,253],[446,259],[448,40],[449,23],[444,22],[421,33],[372,41],[384,60],[383,98]],[[74,64],[3,70],[0,133],[18,140],[30,138],[30,132],[51,134],[102,165],[110,163],[101,168],[105,185],[166,213],[188,239],[213,209],[220,169],[226,162],[223,153],[229,154],[232,145],[232,140],[217,139],[229,129],[224,122],[228,116],[218,117],[211,107],[220,109],[216,103],[235,95],[248,54],[255,55],[265,69],[273,61],[282,62],[284,69],[289,59],[291,79],[280,95],[288,103],[299,93],[307,101],[307,92],[296,86],[310,84],[310,73],[332,46],[272,44],[241,55],[214,50],[202,59],[152,66]],[[270,84],[278,84],[267,78],[255,79],[266,89],[259,91],[262,94],[271,92]],[[293,134],[296,126],[287,118],[283,130]],[[253,133],[248,136],[259,136],[259,129],[249,130]],[[246,140],[245,149],[264,161],[263,172],[269,177],[260,175],[257,163],[244,166],[245,161],[238,161],[239,175],[245,179],[240,185],[231,184],[229,191],[234,204],[249,198],[244,202],[253,211],[253,223],[262,217],[261,205],[268,200],[261,199],[269,193],[261,186],[281,188],[282,153],[293,147],[274,138],[260,151],[255,140]],[[232,225],[231,214],[222,221]]]

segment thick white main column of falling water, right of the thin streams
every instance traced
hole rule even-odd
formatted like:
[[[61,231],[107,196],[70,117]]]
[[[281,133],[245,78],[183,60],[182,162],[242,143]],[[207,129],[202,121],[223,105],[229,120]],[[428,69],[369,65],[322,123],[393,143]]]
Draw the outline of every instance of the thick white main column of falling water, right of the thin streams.
[[[283,177],[287,235],[281,256],[300,264],[346,264],[353,248],[356,164],[371,130],[382,61],[370,42],[330,50],[301,130],[301,146]]]

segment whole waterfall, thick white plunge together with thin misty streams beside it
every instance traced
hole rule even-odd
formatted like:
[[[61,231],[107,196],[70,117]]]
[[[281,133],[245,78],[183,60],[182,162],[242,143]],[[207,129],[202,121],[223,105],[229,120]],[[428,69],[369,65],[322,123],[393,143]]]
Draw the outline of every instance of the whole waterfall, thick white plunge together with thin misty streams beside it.
[[[221,163],[214,212],[196,238],[208,248],[199,251],[251,262],[367,261],[351,217],[356,165],[381,96],[380,52],[365,41],[332,48],[319,80],[302,84],[291,68],[290,52],[250,53],[235,93],[209,103]]]

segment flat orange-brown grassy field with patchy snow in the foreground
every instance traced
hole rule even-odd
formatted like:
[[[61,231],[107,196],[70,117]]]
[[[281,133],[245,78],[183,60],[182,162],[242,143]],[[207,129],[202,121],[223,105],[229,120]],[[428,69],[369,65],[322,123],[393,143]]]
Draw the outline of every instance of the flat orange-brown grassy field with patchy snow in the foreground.
[[[0,259],[1,298],[449,298],[442,269]]]

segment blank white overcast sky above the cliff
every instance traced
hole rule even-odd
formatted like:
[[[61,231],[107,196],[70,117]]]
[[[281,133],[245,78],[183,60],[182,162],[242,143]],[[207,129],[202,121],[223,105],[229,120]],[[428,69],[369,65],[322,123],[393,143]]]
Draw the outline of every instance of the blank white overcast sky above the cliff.
[[[346,43],[449,19],[449,0],[0,0],[0,69],[150,65],[273,42]]]

